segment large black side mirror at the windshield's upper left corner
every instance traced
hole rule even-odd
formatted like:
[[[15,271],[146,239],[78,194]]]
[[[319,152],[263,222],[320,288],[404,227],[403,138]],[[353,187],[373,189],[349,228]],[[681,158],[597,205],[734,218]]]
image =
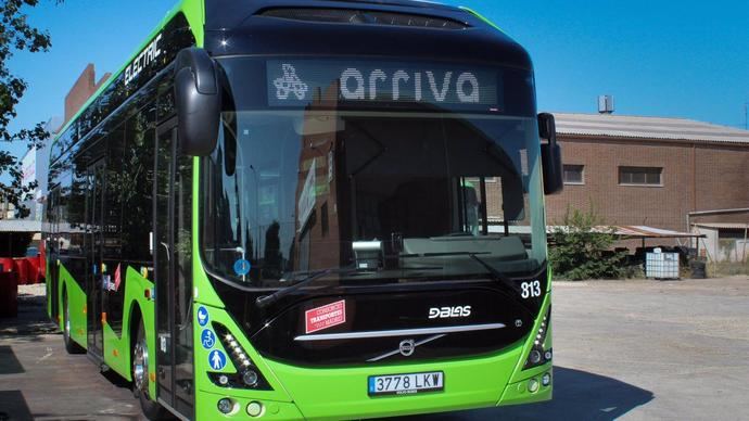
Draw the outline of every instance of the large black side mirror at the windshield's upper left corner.
[[[216,148],[221,112],[214,61],[203,49],[187,48],[177,54],[174,72],[180,151],[208,155]]]

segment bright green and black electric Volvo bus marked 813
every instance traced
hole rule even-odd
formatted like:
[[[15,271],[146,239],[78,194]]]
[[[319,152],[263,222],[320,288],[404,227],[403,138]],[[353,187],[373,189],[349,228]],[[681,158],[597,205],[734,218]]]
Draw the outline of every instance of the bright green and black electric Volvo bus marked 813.
[[[53,141],[48,311],[149,418],[551,398],[554,117],[412,0],[183,0]]]

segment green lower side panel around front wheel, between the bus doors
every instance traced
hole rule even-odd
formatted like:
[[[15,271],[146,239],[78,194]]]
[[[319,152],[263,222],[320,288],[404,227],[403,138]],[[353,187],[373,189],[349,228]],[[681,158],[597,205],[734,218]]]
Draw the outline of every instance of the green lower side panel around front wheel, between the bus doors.
[[[137,309],[140,310],[143,326],[156,326],[154,319],[154,302],[150,298],[145,298],[145,291],[153,290],[153,282],[143,278],[137,270],[128,266],[125,271],[125,307],[126,310],[123,317],[123,329],[122,337],[117,337],[117,334],[112,330],[109,324],[104,324],[104,362],[122,375],[125,380],[131,381],[132,377],[130,373],[130,344],[134,337],[130,336],[130,332],[137,327],[134,327],[132,316]],[[153,296],[151,294],[151,296]],[[155,349],[151,346],[153,332],[149,329],[145,330],[145,341],[149,342],[149,349]],[[151,365],[153,366],[153,365]],[[152,367],[149,367],[152,368]],[[155,373],[154,370],[150,370]]]

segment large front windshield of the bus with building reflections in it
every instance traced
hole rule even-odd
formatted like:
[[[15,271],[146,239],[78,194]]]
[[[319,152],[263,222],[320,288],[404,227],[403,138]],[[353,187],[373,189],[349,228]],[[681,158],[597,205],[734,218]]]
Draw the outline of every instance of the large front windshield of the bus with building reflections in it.
[[[214,275],[282,288],[330,269],[319,282],[376,284],[528,276],[545,263],[537,123],[502,112],[512,99],[481,86],[491,71],[471,72],[479,86],[458,84],[460,94],[445,82],[459,71],[443,68],[422,73],[427,92],[428,80],[444,84],[431,98],[404,82],[397,100],[383,88],[369,101],[373,71],[361,64],[347,68],[367,81],[353,99],[358,77],[343,80],[343,66],[282,65],[287,80],[272,84],[256,59],[220,64],[223,124],[201,166],[201,251]],[[389,66],[374,81],[392,88]],[[410,80],[421,72],[403,67]]]

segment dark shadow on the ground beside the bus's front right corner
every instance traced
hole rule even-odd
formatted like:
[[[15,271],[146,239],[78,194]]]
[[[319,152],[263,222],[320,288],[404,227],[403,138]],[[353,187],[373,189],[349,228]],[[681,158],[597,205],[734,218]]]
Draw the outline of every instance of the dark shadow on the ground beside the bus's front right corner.
[[[613,420],[653,399],[652,392],[581,370],[554,368],[554,399],[533,405],[402,417],[401,421]]]

